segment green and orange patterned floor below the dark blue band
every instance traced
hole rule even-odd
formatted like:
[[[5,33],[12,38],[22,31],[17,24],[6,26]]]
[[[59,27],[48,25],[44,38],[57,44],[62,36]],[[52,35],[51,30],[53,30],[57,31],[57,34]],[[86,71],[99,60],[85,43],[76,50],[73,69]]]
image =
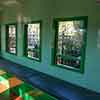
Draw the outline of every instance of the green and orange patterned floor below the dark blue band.
[[[0,100],[56,100],[17,77],[0,70]]]

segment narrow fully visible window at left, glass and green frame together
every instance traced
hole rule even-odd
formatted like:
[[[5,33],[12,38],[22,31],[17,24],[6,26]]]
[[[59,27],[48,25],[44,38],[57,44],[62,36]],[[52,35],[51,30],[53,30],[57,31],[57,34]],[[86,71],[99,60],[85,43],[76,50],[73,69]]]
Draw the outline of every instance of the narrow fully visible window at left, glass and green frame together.
[[[11,54],[16,54],[17,49],[16,49],[16,44],[17,44],[17,26],[16,24],[8,24],[6,25],[6,50],[7,52]]]

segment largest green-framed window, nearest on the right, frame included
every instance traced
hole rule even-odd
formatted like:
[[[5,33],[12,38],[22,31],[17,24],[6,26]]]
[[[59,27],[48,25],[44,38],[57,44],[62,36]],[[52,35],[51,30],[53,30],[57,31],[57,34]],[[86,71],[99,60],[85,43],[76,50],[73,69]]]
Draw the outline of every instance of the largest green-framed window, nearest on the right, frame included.
[[[87,17],[56,19],[54,63],[83,72]]]

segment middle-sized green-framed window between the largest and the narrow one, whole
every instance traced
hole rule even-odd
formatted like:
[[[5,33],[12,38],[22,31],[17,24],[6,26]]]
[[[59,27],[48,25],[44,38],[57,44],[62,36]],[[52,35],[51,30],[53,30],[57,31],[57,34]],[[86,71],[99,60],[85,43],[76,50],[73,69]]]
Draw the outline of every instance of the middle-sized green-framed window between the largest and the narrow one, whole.
[[[40,33],[41,33],[41,23],[32,22],[25,25],[25,55],[28,58],[40,60]]]

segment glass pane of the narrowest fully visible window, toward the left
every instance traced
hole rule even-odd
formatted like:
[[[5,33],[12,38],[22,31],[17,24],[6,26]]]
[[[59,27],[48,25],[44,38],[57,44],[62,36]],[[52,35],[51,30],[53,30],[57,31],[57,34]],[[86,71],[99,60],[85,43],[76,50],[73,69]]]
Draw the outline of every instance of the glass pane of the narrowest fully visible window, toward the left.
[[[10,53],[16,53],[16,27],[15,25],[9,25],[8,35],[8,50]]]

